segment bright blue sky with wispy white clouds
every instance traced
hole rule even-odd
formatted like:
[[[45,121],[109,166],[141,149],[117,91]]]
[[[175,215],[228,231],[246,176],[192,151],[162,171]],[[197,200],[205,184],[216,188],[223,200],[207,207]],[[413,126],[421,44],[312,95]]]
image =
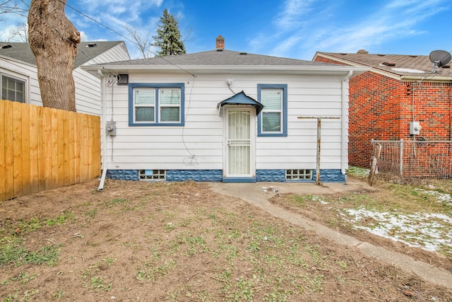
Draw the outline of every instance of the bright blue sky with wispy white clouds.
[[[18,0],[27,7],[30,0]],[[311,60],[316,51],[424,54],[452,50],[450,0],[68,0],[66,16],[83,40],[125,40],[131,57],[139,54],[126,40],[124,25],[155,35],[165,8],[179,22],[189,53],[225,49]],[[114,33],[69,6],[112,28]],[[0,37],[26,22],[0,15]]]

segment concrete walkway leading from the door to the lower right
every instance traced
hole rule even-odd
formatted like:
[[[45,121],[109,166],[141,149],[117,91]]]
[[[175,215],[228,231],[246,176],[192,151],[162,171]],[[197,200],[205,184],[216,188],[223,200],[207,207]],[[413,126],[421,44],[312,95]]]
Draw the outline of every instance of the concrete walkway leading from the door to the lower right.
[[[374,257],[378,260],[386,262],[390,265],[402,269],[405,272],[412,272],[417,276],[430,281],[434,284],[444,286],[452,289],[452,274],[444,269],[433,267],[425,262],[413,259],[408,255],[403,255],[398,252],[392,252],[386,248],[381,248],[378,245],[363,242],[347,236],[343,233],[333,231],[331,228],[323,226],[321,223],[305,219],[299,214],[292,213],[280,207],[275,207],[270,204],[268,199],[275,194],[335,194],[344,191],[365,192],[375,190],[373,187],[367,185],[366,182],[359,180],[348,181],[347,183],[326,183],[322,186],[313,183],[294,183],[294,182],[257,182],[257,183],[222,183],[209,182],[214,192],[226,196],[237,197],[243,199],[249,204],[254,204],[256,207],[268,211],[273,216],[285,219],[297,226],[306,228],[307,230],[315,231],[321,236],[325,236],[336,243],[347,245],[351,248],[357,248],[362,254]],[[268,190],[264,190],[266,187]],[[273,190],[278,192],[273,192]]]

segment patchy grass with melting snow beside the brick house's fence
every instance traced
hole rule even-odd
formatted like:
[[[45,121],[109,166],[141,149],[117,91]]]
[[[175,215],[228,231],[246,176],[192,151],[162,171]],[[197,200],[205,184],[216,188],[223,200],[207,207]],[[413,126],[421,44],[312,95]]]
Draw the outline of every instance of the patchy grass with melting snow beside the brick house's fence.
[[[349,175],[365,175],[350,169]],[[275,198],[311,217],[321,216],[328,226],[347,233],[367,231],[410,247],[452,257],[452,197],[450,181],[428,185],[381,182],[376,192],[348,192],[335,196],[296,195]]]

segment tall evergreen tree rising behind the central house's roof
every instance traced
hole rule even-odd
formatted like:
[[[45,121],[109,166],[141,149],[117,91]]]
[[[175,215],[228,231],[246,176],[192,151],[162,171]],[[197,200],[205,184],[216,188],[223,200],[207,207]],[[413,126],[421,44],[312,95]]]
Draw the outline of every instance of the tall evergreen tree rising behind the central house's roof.
[[[153,36],[154,46],[160,48],[158,56],[171,56],[177,54],[184,54],[185,46],[181,40],[181,32],[177,26],[177,21],[167,9],[163,11],[163,16],[160,17],[160,25],[157,28],[157,35]]]

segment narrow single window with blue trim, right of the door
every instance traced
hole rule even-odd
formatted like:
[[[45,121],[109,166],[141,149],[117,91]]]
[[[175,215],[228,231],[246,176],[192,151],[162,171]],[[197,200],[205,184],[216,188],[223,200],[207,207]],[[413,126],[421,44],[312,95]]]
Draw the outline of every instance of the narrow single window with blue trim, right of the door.
[[[287,137],[287,85],[258,84],[258,137]]]

